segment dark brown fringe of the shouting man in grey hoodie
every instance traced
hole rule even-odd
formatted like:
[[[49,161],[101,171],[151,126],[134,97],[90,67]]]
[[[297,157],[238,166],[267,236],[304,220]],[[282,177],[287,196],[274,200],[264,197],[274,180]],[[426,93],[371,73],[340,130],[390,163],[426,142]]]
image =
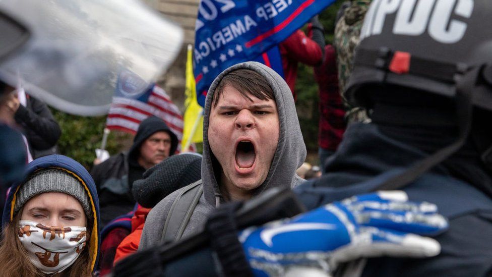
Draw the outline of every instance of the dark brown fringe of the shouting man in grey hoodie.
[[[229,72],[220,80],[212,98],[214,107],[217,106],[220,95],[222,95],[224,87],[227,85],[237,89],[244,98],[250,101],[253,101],[250,97],[251,95],[260,100],[272,99],[275,101],[273,89],[264,76],[251,69],[238,69]]]

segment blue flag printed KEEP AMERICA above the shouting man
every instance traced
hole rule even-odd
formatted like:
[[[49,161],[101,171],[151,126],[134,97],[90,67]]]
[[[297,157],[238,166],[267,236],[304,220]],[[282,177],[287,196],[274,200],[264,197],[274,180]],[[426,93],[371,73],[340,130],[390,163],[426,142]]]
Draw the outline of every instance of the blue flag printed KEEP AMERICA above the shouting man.
[[[261,62],[283,76],[276,46],[335,0],[202,0],[196,22],[194,74],[204,105],[212,81],[224,69]]]

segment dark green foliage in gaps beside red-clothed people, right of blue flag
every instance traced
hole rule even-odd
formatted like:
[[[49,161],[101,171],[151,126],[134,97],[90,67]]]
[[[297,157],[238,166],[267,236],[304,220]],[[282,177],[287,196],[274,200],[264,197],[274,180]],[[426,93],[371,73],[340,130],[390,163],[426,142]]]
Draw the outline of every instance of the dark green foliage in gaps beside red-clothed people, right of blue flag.
[[[343,1],[338,1],[325,9],[320,15],[319,20],[325,28],[325,40],[330,44],[333,42],[333,32],[335,30],[335,17]],[[318,151],[318,124],[319,124],[319,94],[318,84],[313,75],[313,68],[299,63],[297,80],[295,83],[297,92],[297,115],[299,117],[300,128],[304,136],[304,142],[308,152]],[[316,162],[311,160],[310,162]]]

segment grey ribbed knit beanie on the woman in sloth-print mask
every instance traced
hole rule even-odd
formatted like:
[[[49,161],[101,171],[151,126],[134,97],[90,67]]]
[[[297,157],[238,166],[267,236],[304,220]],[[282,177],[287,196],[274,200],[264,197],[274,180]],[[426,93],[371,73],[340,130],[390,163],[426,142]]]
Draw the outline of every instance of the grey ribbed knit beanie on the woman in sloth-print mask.
[[[33,173],[17,192],[14,214],[36,195],[45,192],[61,192],[75,197],[84,208],[85,214],[92,217],[89,196],[82,183],[72,174],[54,168],[42,169]]]

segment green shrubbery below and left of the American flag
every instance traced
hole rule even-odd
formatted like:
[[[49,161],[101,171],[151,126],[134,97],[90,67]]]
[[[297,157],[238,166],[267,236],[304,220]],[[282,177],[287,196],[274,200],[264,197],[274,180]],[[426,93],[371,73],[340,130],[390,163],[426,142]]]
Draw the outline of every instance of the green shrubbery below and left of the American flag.
[[[61,128],[61,137],[58,140],[59,153],[77,160],[86,169],[90,169],[92,161],[96,158],[95,149],[101,146],[106,116],[80,117],[55,109],[51,109],[51,112]],[[131,134],[111,132],[106,150],[114,154],[120,149],[129,148],[131,138]]]

